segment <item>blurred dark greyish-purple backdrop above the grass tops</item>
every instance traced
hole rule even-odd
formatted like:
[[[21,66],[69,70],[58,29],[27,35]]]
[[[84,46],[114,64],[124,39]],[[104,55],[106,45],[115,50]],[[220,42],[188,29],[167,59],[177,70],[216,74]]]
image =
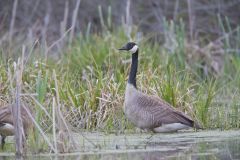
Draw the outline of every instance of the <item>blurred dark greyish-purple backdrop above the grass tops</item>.
[[[13,16],[14,2],[16,14]],[[20,35],[23,39],[44,38],[48,43],[57,40],[61,34],[72,26],[73,12],[78,0],[0,0],[0,45],[11,30],[11,35]],[[111,15],[113,30],[126,22],[128,0],[81,0],[77,8],[75,33],[85,32],[91,23],[91,33],[100,33],[103,27],[100,22],[99,6],[103,18]],[[232,28],[240,22],[239,0],[132,0],[130,2],[128,23],[137,26],[143,33],[154,33],[158,36],[164,31],[163,21],[185,22],[191,38],[200,36],[214,39],[223,35],[219,18],[227,19]],[[111,12],[109,12],[109,7]],[[61,23],[66,14],[66,25],[61,31]],[[109,14],[110,13],[110,14]],[[14,25],[11,29],[11,22]],[[159,34],[156,34],[159,33]]]

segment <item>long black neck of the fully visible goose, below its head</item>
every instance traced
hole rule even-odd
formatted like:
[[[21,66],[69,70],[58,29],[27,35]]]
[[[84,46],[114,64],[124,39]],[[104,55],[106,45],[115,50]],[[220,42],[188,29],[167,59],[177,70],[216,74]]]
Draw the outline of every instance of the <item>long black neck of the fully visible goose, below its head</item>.
[[[136,84],[137,67],[138,67],[138,50],[132,54],[132,65],[128,78],[128,83],[132,84],[135,88],[137,88]]]

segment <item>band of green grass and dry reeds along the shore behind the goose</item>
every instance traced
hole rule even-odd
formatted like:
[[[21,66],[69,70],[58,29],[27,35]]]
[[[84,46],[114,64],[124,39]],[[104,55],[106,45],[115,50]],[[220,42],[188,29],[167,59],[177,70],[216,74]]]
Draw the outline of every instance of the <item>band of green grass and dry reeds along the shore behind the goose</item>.
[[[32,38],[20,47],[13,37],[1,43],[0,106],[17,101],[33,111],[28,152],[71,152],[74,132],[139,132],[122,111],[131,57],[117,49],[127,41],[141,49],[139,90],[161,97],[206,130],[240,128],[239,26],[219,18],[223,36],[190,40],[183,21],[164,19],[162,42],[129,22],[113,29],[111,8],[107,21],[101,12],[99,7],[101,33],[91,33],[89,23],[75,34],[73,14],[73,27],[50,46]],[[12,150],[6,144],[4,151]]]

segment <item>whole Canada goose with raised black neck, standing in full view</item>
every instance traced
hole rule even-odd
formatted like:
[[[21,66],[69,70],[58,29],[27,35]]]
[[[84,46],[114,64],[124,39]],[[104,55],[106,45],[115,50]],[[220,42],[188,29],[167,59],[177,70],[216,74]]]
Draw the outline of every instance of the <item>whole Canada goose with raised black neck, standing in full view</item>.
[[[153,132],[174,132],[200,126],[184,113],[177,111],[159,97],[146,95],[137,90],[138,46],[129,42],[119,50],[132,53],[132,64],[126,86],[124,113],[138,128]]]

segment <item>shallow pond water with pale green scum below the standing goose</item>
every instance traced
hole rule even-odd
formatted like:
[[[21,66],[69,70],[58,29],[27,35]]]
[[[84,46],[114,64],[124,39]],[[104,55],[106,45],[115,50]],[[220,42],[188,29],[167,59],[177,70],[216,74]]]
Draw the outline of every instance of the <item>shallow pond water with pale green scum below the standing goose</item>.
[[[240,159],[240,131],[201,131],[173,134],[76,134],[78,150],[71,154],[42,154],[23,159],[47,160],[185,160]],[[1,159],[14,159],[2,153]]]

